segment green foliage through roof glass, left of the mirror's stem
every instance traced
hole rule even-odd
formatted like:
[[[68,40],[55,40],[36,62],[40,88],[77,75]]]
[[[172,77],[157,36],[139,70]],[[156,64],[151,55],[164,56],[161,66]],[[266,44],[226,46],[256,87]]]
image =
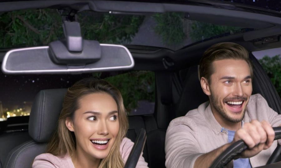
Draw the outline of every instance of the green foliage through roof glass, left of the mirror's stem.
[[[46,45],[63,35],[54,9],[21,10],[0,14],[0,47]]]

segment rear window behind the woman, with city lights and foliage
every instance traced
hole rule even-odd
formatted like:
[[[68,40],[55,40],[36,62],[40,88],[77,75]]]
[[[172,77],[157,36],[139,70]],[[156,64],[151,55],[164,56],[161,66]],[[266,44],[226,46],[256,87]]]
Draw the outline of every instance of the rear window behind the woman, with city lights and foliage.
[[[154,113],[154,72],[102,72],[81,75],[5,75],[0,72],[0,78],[4,79],[0,83],[0,122],[10,117],[29,115],[32,101],[40,90],[67,88],[86,77],[105,79],[116,86],[121,91],[129,115]]]

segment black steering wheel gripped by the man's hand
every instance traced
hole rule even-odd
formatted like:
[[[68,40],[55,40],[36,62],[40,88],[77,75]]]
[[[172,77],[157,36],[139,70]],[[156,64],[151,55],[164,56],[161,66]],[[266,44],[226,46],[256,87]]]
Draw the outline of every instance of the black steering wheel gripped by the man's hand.
[[[281,139],[281,127],[274,127],[273,130],[275,132],[274,140]],[[223,168],[226,164],[232,161],[236,155],[240,154],[247,148],[248,146],[243,140],[234,142],[214,160],[210,168]],[[280,153],[274,152],[272,156],[277,154],[280,155]],[[270,156],[270,158],[272,158],[272,156]]]

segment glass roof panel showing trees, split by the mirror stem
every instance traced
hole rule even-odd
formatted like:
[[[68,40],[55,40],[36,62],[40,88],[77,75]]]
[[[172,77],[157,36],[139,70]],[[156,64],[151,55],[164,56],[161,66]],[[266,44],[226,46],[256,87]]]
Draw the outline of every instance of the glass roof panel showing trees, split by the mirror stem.
[[[0,48],[48,45],[64,38],[57,9],[34,9],[0,14]],[[84,39],[100,43],[135,44],[178,50],[198,41],[238,33],[241,27],[214,25],[187,19],[187,13],[121,15],[83,11],[76,15]]]

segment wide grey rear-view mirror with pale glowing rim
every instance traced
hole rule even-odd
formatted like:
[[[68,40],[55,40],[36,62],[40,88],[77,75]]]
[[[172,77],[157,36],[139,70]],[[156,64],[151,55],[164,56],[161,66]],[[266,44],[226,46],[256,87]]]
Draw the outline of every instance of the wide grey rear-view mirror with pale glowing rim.
[[[88,43],[83,44],[83,46],[88,46],[87,48],[89,48],[89,45]],[[82,51],[94,55],[86,63],[79,63],[79,58],[77,57],[73,61],[71,60],[71,55],[65,56],[62,55],[63,53],[54,57],[54,55],[50,54],[52,51],[49,46],[13,49],[5,55],[2,62],[2,71],[6,74],[63,74],[126,70],[134,67],[132,55],[125,46],[115,44],[99,45],[100,50],[89,49],[89,51]],[[63,64],[65,60],[67,61]]]

